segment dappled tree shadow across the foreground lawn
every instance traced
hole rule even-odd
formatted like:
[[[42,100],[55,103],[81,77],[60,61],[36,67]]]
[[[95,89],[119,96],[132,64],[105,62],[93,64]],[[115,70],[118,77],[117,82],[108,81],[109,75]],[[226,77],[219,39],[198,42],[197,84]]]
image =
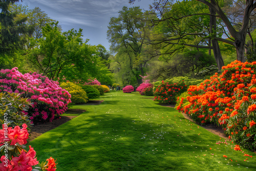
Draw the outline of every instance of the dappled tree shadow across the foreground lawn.
[[[182,136],[174,126],[122,115],[80,115],[29,145],[40,161],[50,156],[57,159],[58,170],[154,170],[154,165],[158,170],[187,169],[183,158],[195,151],[191,142],[210,138]]]

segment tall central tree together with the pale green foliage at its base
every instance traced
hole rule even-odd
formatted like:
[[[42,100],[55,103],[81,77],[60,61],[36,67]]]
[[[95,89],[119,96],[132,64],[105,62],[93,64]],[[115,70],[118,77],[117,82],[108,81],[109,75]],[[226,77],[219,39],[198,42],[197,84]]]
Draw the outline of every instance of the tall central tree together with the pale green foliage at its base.
[[[117,52],[114,59],[112,70],[118,75],[118,82],[122,85],[140,84],[139,75],[144,75],[148,61],[153,57],[152,54],[144,49],[145,39],[149,29],[146,20],[152,14],[143,15],[139,7],[123,7],[119,11],[118,17],[112,17],[107,32],[111,50]]]

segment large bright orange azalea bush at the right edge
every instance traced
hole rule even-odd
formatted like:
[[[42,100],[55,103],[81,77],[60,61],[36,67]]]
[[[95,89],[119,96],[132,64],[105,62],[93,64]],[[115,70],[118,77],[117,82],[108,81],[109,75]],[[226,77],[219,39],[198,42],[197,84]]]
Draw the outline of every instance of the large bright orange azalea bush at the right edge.
[[[219,76],[216,73],[200,86],[190,86],[189,96],[181,99],[177,110],[198,122],[222,125],[229,139],[255,151],[256,61],[236,60],[222,69]]]

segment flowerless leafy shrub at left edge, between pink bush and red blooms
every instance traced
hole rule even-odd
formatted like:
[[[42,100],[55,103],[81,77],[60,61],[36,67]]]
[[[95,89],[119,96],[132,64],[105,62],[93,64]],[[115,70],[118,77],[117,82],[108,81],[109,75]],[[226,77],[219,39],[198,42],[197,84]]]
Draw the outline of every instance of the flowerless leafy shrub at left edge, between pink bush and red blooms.
[[[18,93],[0,93],[0,124],[7,123],[9,127],[30,125],[31,120],[27,115],[31,103],[27,98],[22,98]]]

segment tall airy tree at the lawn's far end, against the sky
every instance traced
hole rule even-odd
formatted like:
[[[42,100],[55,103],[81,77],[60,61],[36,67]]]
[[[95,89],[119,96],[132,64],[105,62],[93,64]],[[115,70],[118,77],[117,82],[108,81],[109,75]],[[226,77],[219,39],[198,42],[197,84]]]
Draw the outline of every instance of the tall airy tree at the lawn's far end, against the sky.
[[[118,52],[118,56],[126,58],[123,60],[127,65],[125,68],[129,67],[131,71],[129,73],[131,77],[136,77],[137,83],[141,83],[139,75],[144,75],[143,66],[147,62],[141,60],[146,38],[143,30],[146,24],[143,18],[143,12],[139,7],[123,7],[118,17],[111,18],[107,32],[111,50]]]

